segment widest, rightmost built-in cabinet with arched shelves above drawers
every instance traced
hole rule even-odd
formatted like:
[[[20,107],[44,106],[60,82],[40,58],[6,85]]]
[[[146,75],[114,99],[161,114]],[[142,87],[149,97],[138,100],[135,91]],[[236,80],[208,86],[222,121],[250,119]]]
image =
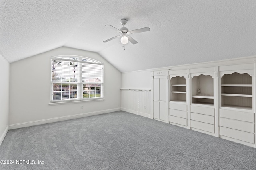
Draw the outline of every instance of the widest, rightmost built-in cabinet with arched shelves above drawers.
[[[219,134],[224,139],[254,145],[254,64],[247,64],[242,70],[237,68],[239,65],[233,68],[220,67],[222,71],[220,72]]]

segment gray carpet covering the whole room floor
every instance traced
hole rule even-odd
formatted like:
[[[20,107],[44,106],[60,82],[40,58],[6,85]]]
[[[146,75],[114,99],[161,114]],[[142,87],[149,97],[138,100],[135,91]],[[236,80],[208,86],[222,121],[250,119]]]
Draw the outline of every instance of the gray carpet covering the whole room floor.
[[[256,149],[118,111],[9,130],[0,160],[15,161],[1,170],[255,170]]]

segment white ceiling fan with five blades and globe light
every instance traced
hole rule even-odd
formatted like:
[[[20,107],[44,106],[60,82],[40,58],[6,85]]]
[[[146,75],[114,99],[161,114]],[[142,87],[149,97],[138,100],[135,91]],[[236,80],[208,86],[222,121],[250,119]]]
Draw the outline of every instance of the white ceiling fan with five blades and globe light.
[[[112,29],[114,29],[115,31],[119,32],[121,35],[117,35],[115,37],[112,37],[110,39],[107,39],[105,41],[103,41],[104,43],[112,40],[112,39],[116,39],[118,37],[121,37],[120,41],[122,44],[127,44],[129,41],[132,43],[132,44],[137,44],[138,42],[133,39],[132,37],[130,37],[128,34],[135,34],[135,33],[141,33],[141,32],[146,32],[146,31],[150,31],[150,28],[149,27],[145,27],[145,28],[140,28],[140,29],[134,29],[132,31],[129,31],[128,28],[124,27],[124,25],[127,23],[128,20],[126,19],[121,19],[120,22],[121,24],[123,25],[122,28],[120,29],[117,29],[115,27],[113,27],[112,25],[105,25],[107,27],[110,27]]]

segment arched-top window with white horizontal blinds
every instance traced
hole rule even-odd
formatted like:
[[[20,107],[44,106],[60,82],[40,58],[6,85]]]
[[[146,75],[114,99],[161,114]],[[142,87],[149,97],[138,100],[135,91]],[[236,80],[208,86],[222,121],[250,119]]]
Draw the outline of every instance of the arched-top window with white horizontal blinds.
[[[87,57],[51,57],[51,102],[103,98],[103,68]]]

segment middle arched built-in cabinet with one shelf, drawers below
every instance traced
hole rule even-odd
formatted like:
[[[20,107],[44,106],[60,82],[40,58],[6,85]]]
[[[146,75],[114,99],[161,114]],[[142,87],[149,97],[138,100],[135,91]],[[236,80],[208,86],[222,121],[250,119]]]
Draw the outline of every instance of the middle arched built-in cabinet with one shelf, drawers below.
[[[215,135],[214,70],[190,70],[190,129],[209,135]]]

